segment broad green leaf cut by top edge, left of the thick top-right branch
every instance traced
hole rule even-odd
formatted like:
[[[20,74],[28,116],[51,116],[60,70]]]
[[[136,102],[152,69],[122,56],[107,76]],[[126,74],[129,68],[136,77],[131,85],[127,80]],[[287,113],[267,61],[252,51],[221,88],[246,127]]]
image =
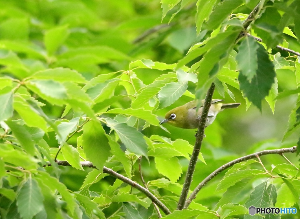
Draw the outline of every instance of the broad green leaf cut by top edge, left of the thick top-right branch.
[[[215,7],[207,21],[208,30],[216,29],[241,4],[243,4],[242,0],[226,0]]]

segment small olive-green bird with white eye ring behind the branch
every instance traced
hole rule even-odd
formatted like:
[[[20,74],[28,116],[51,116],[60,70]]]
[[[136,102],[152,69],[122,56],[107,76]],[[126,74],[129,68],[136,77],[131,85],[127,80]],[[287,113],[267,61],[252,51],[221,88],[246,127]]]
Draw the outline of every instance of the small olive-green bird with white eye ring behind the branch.
[[[220,111],[223,111],[226,108],[236,108],[241,105],[241,103],[220,103],[222,101],[224,100],[213,99],[211,101],[211,107],[208,111],[205,127],[209,126],[214,121]],[[203,103],[204,100],[202,100],[202,104]],[[161,124],[170,123],[173,126],[183,129],[196,129],[199,126],[199,117],[201,113],[202,107],[196,112],[196,103],[191,101],[167,112],[165,119]]]

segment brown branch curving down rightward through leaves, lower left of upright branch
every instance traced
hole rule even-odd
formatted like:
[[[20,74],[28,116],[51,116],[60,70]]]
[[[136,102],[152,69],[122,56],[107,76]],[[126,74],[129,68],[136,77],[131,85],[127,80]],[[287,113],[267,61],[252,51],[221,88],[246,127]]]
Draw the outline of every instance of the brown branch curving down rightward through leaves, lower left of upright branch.
[[[59,166],[71,166],[70,163],[68,163],[65,160],[58,160],[56,162]],[[85,162],[80,162],[82,166],[87,166],[87,167],[91,167],[91,168],[95,168],[97,169],[91,162],[85,161]],[[51,166],[50,163],[48,163],[48,166]],[[142,193],[144,193],[149,199],[151,199],[152,202],[154,202],[159,208],[161,208],[162,211],[164,211],[164,213],[166,215],[171,214],[171,211],[158,199],[156,198],[151,192],[149,192],[149,190],[147,190],[146,188],[144,188],[143,186],[141,186],[140,184],[138,184],[135,181],[132,181],[131,179],[113,171],[112,169],[109,169],[107,167],[103,167],[103,172],[104,173],[108,173],[109,175],[131,185],[132,187],[136,188],[137,190],[140,190]]]

